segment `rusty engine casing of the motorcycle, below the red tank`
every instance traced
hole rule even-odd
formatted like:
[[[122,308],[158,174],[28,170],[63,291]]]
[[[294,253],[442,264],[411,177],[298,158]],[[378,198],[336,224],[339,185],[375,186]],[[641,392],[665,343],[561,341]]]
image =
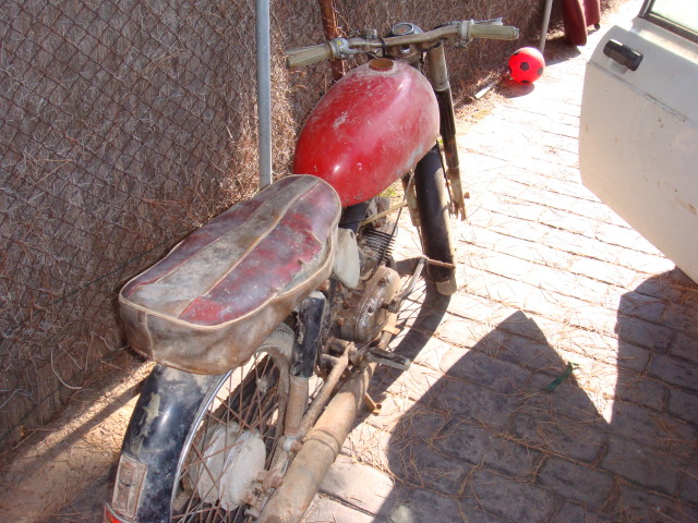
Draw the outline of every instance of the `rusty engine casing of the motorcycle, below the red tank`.
[[[387,312],[384,304],[392,303],[400,287],[400,276],[393,269],[381,266],[373,276],[361,282],[350,293],[338,312],[344,319],[339,328],[341,338],[357,343],[375,339],[385,325]]]

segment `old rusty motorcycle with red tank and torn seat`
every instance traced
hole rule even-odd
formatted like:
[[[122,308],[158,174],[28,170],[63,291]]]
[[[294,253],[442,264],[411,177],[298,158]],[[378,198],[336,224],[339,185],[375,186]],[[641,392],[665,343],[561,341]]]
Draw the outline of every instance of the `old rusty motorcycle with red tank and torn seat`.
[[[376,366],[409,365],[387,349],[422,270],[438,293],[457,290],[449,212],[465,203],[444,40],[517,37],[501,20],[400,23],[288,52],[291,68],[370,60],[313,109],[293,174],[121,290],[131,346],[156,365],[105,521],[300,521],[362,404],[377,406]],[[390,205],[381,193],[398,180],[406,196]],[[424,254],[405,283],[389,220],[404,206]]]

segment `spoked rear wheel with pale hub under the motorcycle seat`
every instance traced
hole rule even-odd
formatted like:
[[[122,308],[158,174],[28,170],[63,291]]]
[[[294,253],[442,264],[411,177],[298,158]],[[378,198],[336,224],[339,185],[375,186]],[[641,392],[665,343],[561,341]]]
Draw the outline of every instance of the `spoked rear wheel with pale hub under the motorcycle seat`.
[[[248,522],[282,434],[288,360],[257,353],[202,402],[177,467],[171,522]],[[261,507],[257,507],[261,508]]]

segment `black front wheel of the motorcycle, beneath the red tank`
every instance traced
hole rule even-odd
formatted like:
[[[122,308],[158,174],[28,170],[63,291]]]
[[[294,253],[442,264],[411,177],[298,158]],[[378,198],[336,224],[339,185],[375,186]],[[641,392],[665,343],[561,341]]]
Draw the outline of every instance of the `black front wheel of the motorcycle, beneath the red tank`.
[[[434,145],[417,163],[414,191],[424,254],[431,259],[454,265],[455,248],[448,220],[448,192],[438,145]],[[429,265],[426,273],[440,294],[448,296],[458,290],[455,267]]]

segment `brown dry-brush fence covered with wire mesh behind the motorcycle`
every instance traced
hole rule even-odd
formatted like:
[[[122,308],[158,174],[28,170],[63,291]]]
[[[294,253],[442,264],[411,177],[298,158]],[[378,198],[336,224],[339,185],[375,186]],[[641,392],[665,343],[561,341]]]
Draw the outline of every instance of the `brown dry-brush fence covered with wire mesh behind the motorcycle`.
[[[543,0],[336,0],[341,28],[504,15],[535,41]],[[315,0],[272,2],[274,172],[330,83],[288,73],[322,40]],[[559,19],[559,16],[557,16]],[[518,44],[450,49],[457,96]],[[116,295],[256,190],[254,0],[4,0],[0,5],[0,449],[124,349]]]

